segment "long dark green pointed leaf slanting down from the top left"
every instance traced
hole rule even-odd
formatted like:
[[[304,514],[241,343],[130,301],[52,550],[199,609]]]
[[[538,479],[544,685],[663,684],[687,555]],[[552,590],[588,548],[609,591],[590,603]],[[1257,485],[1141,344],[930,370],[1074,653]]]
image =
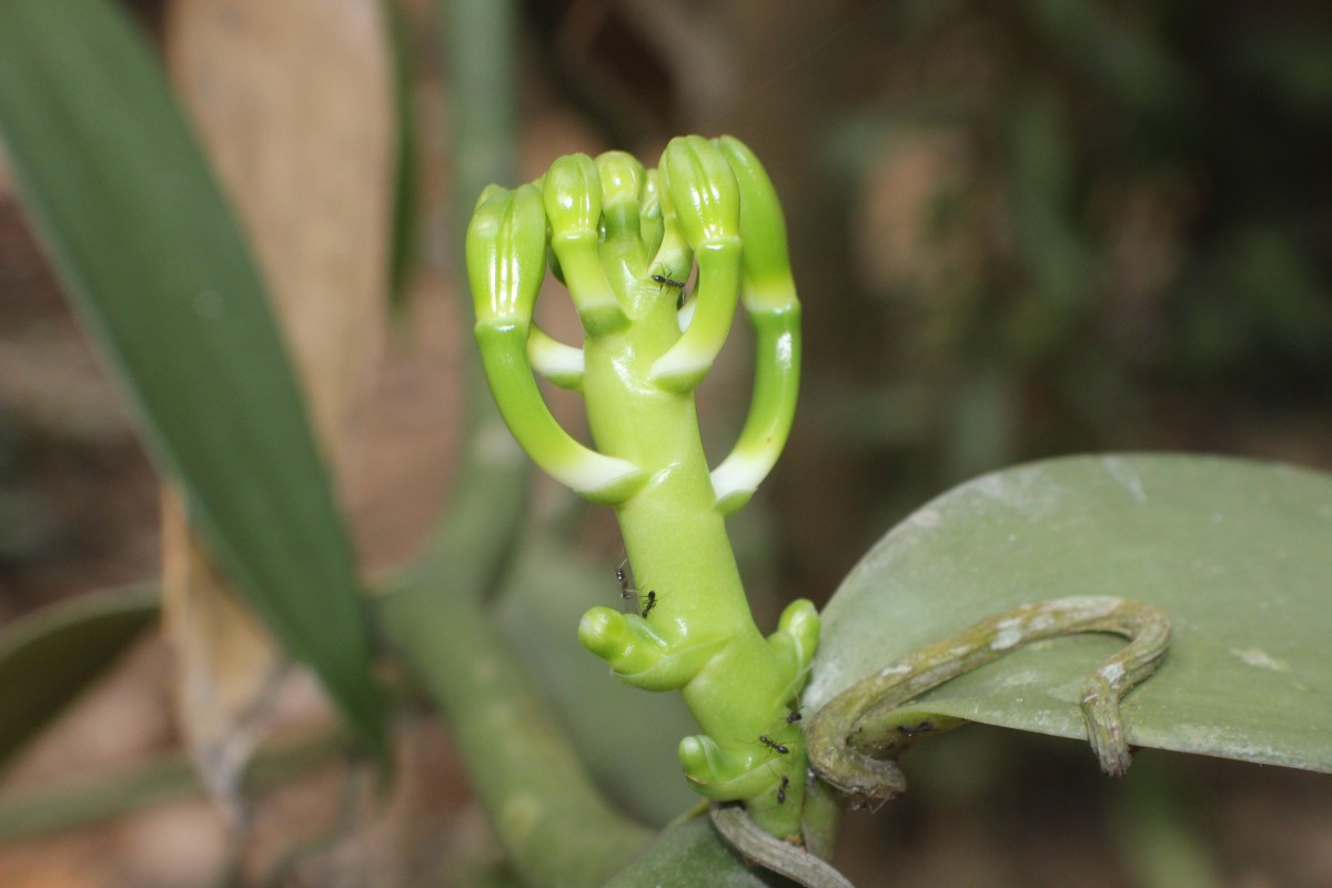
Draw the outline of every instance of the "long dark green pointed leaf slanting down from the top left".
[[[15,177],[214,556],[382,752],[352,547],[262,282],[115,5],[0,0]]]

